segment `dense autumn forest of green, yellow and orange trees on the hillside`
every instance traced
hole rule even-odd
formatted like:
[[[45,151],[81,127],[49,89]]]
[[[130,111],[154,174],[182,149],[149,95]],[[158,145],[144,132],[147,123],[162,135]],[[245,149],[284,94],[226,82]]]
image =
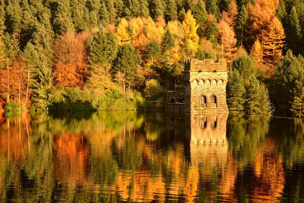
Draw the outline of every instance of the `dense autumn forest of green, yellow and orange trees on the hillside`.
[[[6,110],[147,109],[224,57],[233,114],[302,116],[303,0],[0,0]]]

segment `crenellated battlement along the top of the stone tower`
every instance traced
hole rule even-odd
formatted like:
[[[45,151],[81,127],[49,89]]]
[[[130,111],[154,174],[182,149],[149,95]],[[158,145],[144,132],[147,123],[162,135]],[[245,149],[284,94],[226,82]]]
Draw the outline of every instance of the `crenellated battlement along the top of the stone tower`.
[[[197,58],[186,60],[184,71],[197,71],[197,72],[218,72],[227,71],[227,63],[225,59],[218,61],[206,58],[199,60]]]

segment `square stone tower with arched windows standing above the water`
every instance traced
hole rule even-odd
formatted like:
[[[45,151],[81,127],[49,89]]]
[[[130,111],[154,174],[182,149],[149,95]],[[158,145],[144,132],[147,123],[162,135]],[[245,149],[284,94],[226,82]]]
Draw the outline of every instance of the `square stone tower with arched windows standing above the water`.
[[[228,114],[225,59],[190,59],[184,67],[185,112]]]

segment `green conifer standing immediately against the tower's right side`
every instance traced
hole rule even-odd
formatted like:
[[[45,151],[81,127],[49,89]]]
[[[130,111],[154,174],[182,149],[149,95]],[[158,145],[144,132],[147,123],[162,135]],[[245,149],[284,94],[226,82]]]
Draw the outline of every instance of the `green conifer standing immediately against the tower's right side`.
[[[245,87],[238,70],[229,72],[226,90],[227,106],[230,114],[236,115],[244,113]]]

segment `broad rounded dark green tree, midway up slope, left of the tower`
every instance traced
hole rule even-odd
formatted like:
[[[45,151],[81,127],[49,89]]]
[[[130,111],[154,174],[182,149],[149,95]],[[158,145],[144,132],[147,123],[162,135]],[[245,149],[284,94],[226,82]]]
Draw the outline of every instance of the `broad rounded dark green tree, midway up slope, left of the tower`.
[[[113,61],[112,73],[122,72],[130,87],[135,81],[135,75],[141,62],[140,54],[131,45],[121,46]]]

